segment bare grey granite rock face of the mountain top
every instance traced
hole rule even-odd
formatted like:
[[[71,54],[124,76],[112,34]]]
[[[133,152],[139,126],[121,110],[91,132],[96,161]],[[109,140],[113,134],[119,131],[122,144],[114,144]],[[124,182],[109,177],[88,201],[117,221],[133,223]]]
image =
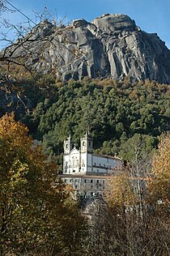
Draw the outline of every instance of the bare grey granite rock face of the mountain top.
[[[48,38],[29,45],[26,65],[38,72],[53,70],[64,79],[129,76],[170,83],[170,50],[157,34],[143,32],[127,15],[102,15],[91,23],[77,19],[57,27],[45,21],[33,33]]]

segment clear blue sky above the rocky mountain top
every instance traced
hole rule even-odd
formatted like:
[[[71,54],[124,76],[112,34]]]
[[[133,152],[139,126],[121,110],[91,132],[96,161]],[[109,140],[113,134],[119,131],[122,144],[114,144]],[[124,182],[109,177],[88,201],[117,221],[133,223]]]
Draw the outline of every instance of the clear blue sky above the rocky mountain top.
[[[170,0],[8,0],[31,19],[34,11],[46,7],[53,16],[62,19],[86,19],[91,21],[104,13],[125,14],[134,19],[146,32],[157,32],[170,49]],[[19,13],[6,14],[11,23],[24,20]],[[0,17],[2,19],[2,17]]]

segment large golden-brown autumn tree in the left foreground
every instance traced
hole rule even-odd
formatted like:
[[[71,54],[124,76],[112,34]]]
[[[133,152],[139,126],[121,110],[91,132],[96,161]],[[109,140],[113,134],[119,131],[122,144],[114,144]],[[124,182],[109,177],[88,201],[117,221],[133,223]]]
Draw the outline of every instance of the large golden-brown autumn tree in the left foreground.
[[[57,181],[57,164],[34,146],[14,115],[0,120],[0,254],[47,255],[79,246],[83,217]]]

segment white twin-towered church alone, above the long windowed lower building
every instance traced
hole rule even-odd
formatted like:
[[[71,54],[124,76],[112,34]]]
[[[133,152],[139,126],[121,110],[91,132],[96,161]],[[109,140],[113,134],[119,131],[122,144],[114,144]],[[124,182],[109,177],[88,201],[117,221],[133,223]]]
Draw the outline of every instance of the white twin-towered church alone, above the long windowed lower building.
[[[93,140],[85,134],[77,149],[69,137],[64,141],[63,174],[107,175],[120,169],[121,159],[93,153]]]

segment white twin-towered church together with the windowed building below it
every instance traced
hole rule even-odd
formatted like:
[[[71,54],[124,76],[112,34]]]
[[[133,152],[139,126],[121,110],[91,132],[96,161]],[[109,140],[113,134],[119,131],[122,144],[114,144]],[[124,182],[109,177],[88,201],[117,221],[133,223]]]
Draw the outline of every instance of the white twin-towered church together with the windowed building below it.
[[[108,177],[121,172],[122,161],[116,156],[93,153],[93,140],[85,134],[79,149],[71,137],[64,141],[63,172],[59,177],[84,198],[103,194]]]

